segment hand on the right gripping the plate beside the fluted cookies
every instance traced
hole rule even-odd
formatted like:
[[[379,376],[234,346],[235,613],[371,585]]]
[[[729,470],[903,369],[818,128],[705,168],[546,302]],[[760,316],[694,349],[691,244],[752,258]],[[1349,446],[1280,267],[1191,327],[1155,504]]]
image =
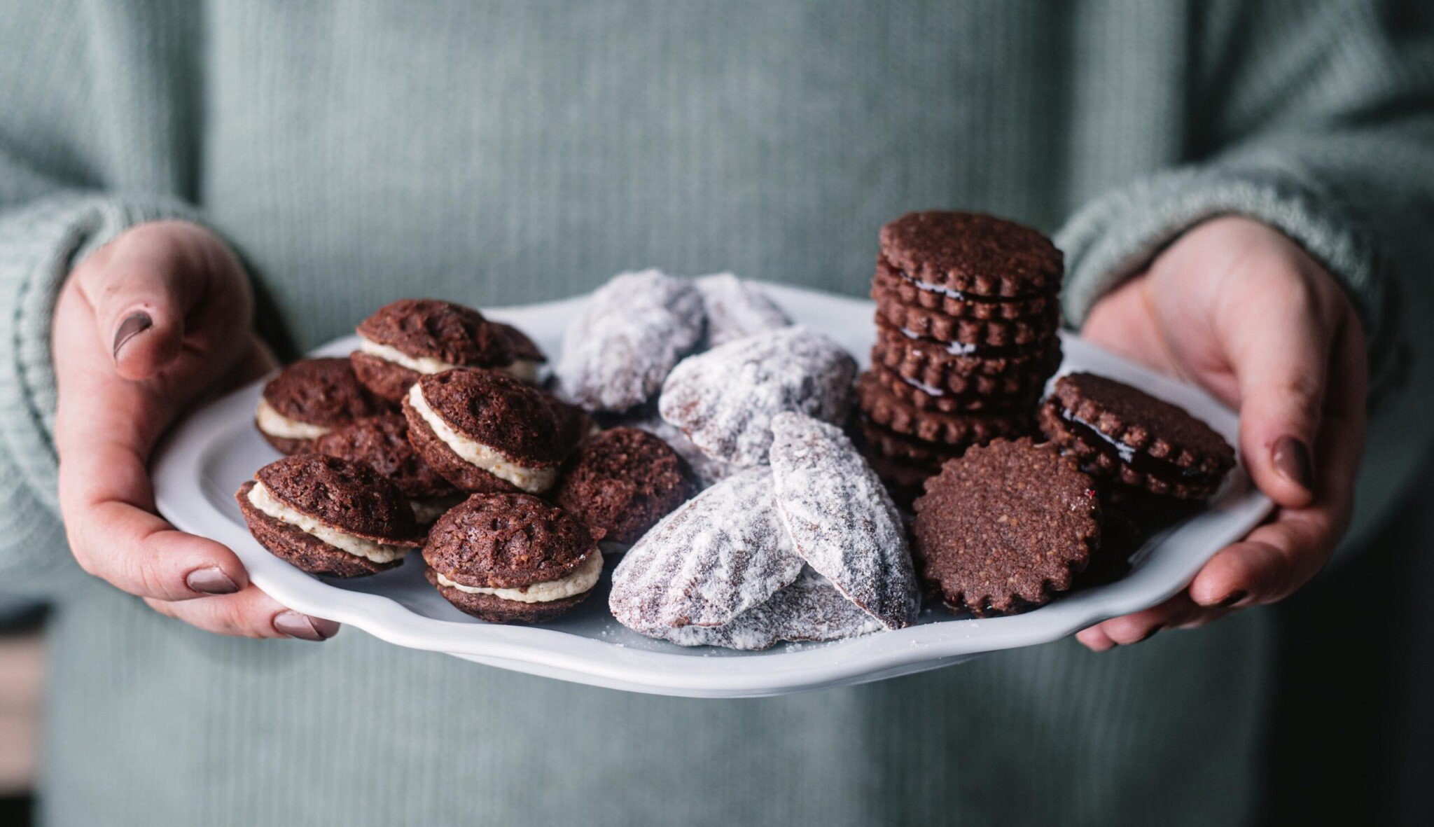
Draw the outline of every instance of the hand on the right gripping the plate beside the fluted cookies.
[[[1137,644],[1309,580],[1349,525],[1364,449],[1364,330],[1335,279],[1279,231],[1216,218],[1104,297],[1081,333],[1236,407],[1245,467],[1276,510],[1183,592],[1080,642],[1097,652]]]

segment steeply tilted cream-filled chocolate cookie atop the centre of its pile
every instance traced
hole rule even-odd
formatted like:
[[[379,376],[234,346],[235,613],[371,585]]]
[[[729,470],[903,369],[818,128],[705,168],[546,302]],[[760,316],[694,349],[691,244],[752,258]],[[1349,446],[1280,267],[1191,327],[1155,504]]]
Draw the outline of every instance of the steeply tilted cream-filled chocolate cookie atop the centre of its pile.
[[[465,492],[542,493],[571,447],[543,391],[489,370],[423,376],[403,414],[413,449]]]

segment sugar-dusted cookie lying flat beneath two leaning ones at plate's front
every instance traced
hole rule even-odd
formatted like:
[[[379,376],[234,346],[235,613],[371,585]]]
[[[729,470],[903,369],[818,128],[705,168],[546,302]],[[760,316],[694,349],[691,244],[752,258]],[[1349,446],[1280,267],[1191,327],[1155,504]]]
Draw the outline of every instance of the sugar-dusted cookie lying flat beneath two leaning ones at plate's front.
[[[681,646],[767,649],[779,641],[837,641],[880,629],[876,618],[842,596],[812,566],[803,566],[792,585],[724,626],[681,626],[660,636]]]

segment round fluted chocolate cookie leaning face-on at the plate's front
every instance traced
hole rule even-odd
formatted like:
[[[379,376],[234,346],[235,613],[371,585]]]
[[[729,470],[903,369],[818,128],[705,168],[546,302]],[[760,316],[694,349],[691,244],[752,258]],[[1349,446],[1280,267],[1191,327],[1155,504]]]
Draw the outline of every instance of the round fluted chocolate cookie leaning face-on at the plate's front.
[[[1100,499],[1074,457],[1030,439],[969,449],[916,500],[916,565],[954,611],[1010,615],[1070,589],[1100,545]]]

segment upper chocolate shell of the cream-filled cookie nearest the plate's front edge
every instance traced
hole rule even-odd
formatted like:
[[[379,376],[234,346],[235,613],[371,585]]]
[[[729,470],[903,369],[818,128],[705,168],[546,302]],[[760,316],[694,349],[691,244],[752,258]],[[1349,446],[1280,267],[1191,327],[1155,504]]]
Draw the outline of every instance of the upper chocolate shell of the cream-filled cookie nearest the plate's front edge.
[[[562,579],[589,553],[588,529],[562,509],[529,494],[473,494],[429,529],[423,562],[455,583],[516,589]]]

